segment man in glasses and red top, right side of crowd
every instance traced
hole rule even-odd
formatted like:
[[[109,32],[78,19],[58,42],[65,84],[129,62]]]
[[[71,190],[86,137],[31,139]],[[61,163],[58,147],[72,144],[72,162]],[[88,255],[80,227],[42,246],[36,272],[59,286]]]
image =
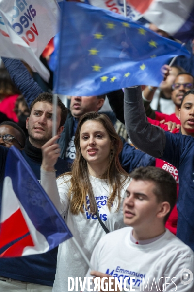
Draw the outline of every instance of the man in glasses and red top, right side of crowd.
[[[169,66],[166,66],[166,69],[168,71],[171,70]],[[179,73],[172,85],[173,91],[171,94],[172,101],[175,104],[175,112],[168,115],[162,112],[154,111],[150,107],[151,100],[148,101],[147,97],[143,96],[146,116],[157,121],[165,120],[165,122],[171,121],[175,122],[176,124],[180,124],[179,109],[181,100],[183,95],[192,88],[194,88],[194,77],[190,73]]]

